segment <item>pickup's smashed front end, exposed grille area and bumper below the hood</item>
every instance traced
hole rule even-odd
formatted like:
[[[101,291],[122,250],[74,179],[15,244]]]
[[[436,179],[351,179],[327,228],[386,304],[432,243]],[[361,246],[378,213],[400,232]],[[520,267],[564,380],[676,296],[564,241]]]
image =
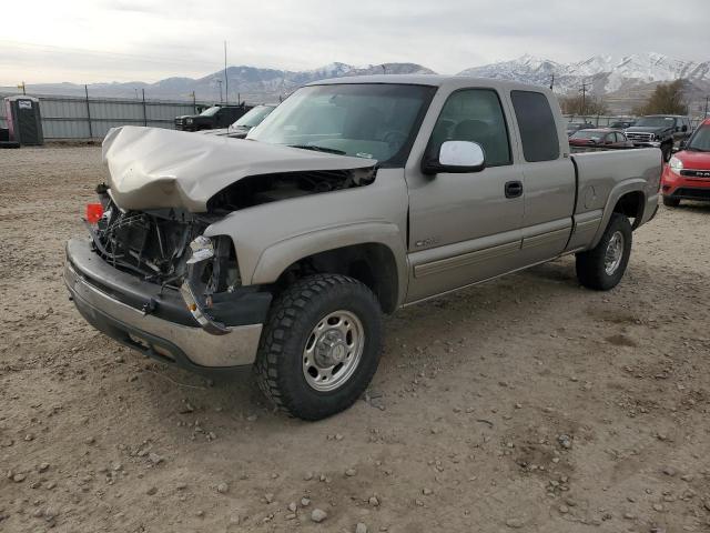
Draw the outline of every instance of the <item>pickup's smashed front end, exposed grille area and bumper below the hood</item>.
[[[100,185],[91,239],[67,243],[64,281],[94,328],[193,371],[250,365],[272,294],[242,286],[231,238],[209,213],[119,209]],[[97,209],[99,208],[99,213]]]

